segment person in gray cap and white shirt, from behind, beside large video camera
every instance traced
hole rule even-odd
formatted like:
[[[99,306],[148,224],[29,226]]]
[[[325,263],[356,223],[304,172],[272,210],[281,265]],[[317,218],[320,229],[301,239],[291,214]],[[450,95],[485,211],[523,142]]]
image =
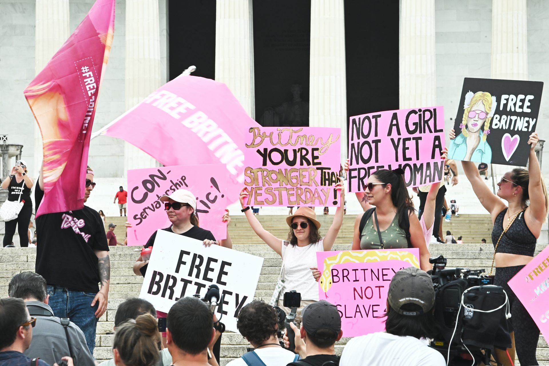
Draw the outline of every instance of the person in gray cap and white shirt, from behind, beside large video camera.
[[[442,354],[427,346],[422,337],[436,333],[433,310],[435,291],[426,272],[408,267],[396,272],[389,285],[385,332],[351,339],[343,350],[340,366],[444,366]]]

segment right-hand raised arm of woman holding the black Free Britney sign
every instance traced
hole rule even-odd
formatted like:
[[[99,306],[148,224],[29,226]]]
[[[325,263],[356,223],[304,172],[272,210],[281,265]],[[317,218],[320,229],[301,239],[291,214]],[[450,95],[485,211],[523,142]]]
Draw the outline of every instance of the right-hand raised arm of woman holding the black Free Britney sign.
[[[540,162],[534,151],[538,142],[537,132],[530,135],[528,143],[530,144],[530,155],[528,156],[528,195],[530,197],[530,206],[525,212],[526,218],[530,218],[535,227],[528,225],[530,230],[538,231],[541,224],[545,222],[547,216],[544,187],[541,183]]]

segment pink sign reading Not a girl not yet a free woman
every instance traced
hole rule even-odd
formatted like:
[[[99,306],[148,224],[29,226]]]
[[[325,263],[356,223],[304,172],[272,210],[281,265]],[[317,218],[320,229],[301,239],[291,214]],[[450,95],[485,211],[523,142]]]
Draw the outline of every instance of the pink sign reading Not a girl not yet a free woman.
[[[442,180],[444,110],[441,106],[384,111],[349,119],[349,192],[363,192],[379,169],[402,168],[406,185]]]

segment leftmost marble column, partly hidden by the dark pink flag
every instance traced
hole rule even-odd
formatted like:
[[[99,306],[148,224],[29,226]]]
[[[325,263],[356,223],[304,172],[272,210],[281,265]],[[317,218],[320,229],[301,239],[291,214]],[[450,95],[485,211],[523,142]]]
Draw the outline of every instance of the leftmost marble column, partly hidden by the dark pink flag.
[[[42,71],[69,36],[69,0],[36,0],[36,74]],[[37,123],[34,137],[34,161],[29,171],[37,177],[43,158],[42,135]]]

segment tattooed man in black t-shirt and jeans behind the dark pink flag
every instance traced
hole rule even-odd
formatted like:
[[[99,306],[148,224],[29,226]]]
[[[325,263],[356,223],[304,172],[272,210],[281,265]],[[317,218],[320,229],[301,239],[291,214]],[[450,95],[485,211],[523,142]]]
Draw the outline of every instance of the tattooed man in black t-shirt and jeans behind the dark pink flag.
[[[96,183],[87,168],[87,201]],[[44,196],[43,174],[35,189],[36,210]],[[107,309],[110,258],[107,236],[99,213],[87,206],[81,210],[44,213],[36,218],[38,245],[36,273],[48,284],[48,305],[59,318],[70,318],[86,337],[93,355],[96,326]],[[98,289],[101,283],[101,289]]]

